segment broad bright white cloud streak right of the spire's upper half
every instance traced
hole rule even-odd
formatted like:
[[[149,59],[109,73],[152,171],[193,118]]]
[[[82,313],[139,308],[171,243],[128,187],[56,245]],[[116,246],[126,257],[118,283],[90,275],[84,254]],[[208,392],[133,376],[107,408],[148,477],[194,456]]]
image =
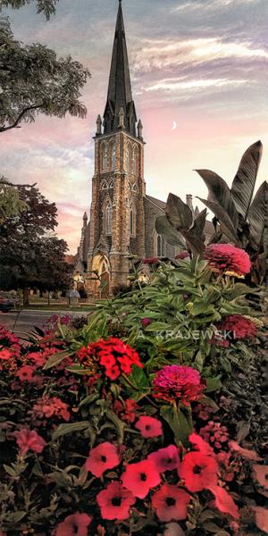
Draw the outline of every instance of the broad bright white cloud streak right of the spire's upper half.
[[[198,65],[226,58],[267,59],[268,52],[255,48],[248,42],[224,42],[219,38],[197,38],[187,40],[160,39],[144,40],[135,55],[134,70],[150,72],[170,70],[180,65]]]

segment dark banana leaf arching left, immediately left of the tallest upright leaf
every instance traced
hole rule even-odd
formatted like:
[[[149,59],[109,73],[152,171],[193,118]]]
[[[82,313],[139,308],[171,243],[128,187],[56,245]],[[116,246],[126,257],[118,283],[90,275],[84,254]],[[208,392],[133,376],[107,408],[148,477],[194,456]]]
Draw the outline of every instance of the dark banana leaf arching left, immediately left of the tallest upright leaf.
[[[221,205],[228,214],[233,228],[237,231],[239,226],[239,213],[230,195],[230,188],[217,173],[210,170],[196,170],[208,188],[208,201]]]

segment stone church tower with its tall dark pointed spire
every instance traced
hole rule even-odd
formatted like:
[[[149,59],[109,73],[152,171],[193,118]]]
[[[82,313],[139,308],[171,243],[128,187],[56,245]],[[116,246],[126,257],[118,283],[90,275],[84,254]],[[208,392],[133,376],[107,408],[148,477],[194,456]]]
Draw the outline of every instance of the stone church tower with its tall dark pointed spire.
[[[130,254],[145,255],[144,140],[130,83],[126,36],[119,4],[104,120],[96,121],[95,174],[88,272],[106,282],[106,293],[126,285]],[[87,287],[96,283],[88,281]]]

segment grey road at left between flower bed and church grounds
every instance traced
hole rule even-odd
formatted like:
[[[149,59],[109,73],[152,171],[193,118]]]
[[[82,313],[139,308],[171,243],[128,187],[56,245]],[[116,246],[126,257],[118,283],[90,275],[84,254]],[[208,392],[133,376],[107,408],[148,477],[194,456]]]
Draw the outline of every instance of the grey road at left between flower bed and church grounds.
[[[61,311],[60,313],[53,311],[21,311],[18,313],[1,313],[0,325],[3,324],[9,330],[12,330],[16,335],[20,336],[23,332],[32,330],[34,326],[42,328],[50,316],[53,314],[71,314],[71,316],[86,316],[86,313]]]

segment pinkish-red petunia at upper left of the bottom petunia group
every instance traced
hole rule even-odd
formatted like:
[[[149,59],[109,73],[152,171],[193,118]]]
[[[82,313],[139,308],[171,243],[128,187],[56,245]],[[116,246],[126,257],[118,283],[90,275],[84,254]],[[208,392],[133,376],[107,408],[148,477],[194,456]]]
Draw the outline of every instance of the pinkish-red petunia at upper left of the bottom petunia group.
[[[94,474],[94,476],[100,477],[107,469],[113,469],[113,467],[119,464],[120,457],[118,456],[117,448],[112,443],[106,441],[90,450],[86,462],[86,469]]]

